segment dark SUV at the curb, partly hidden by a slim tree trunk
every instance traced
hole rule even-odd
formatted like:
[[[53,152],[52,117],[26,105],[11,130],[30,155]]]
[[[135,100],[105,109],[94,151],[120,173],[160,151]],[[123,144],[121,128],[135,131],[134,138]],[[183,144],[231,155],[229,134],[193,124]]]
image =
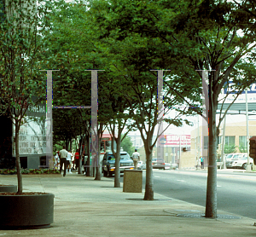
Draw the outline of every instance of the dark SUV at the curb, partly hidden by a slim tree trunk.
[[[120,152],[120,173],[124,173],[125,169],[133,170],[133,160],[126,152]],[[112,176],[115,171],[115,159],[113,153],[105,153],[102,159],[102,172],[103,176]]]

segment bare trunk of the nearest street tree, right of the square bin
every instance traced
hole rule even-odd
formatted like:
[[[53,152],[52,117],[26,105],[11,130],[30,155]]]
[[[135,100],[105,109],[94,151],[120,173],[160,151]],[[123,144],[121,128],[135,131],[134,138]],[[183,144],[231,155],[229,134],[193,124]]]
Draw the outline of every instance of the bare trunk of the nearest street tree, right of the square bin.
[[[212,95],[214,96],[214,95]],[[209,96],[209,163],[207,177],[206,217],[217,217],[217,127],[216,109],[218,101]]]

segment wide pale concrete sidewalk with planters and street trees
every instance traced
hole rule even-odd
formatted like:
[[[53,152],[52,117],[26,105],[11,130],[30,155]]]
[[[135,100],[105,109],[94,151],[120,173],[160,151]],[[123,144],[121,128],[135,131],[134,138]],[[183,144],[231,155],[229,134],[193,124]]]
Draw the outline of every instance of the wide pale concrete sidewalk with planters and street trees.
[[[0,176],[0,184],[16,184],[16,176]],[[207,219],[177,217],[200,214],[205,208],[154,194],[123,193],[113,180],[84,175],[23,176],[24,192],[55,194],[55,221],[50,228],[0,230],[0,236],[255,236],[256,220],[240,217]],[[239,217],[231,213],[218,211]]]

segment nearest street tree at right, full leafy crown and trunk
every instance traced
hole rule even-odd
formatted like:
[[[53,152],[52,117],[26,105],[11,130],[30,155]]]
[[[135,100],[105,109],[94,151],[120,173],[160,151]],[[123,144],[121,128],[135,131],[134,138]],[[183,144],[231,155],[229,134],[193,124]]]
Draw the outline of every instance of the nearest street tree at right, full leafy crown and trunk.
[[[248,25],[252,18],[237,11],[234,4],[212,1],[194,5],[190,12],[180,14],[177,32],[183,32],[183,39],[175,35],[177,42],[186,39],[194,45],[195,55],[189,55],[188,65],[198,70],[205,92],[207,117],[209,121],[209,161],[207,178],[206,217],[217,217],[217,138],[219,126],[230,106],[224,111],[220,108],[217,121],[218,104],[224,103],[227,96],[219,98],[224,88],[236,89],[234,101],[241,92],[255,82],[255,59],[250,57],[255,47],[253,33]],[[200,15],[195,24],[195,15]],[[184,17],[184,18],[183,18]],[[240,20],[238,20],[238,17]],[[189,19],[187,22],[184,19]],[[242,19],[242,20],[241,20]],[[183,26],[183,27],[180,27]],[[192,29],[192,31],[190,31]],[[185,33],[184,33],[185,32]],[[252,59],[247,61],[243,57]],[[204,77],[201,70],[208,70]],[[232,81],[232,82],[230,82]],[[232,84],[232,86],[230,85]],[[208,85],[208,86],[207,86]],[[208,92],[209,91],[209,92]],[[209,95],[209,96],[208,96]],[[233,102],[234,102],[233,101]]]

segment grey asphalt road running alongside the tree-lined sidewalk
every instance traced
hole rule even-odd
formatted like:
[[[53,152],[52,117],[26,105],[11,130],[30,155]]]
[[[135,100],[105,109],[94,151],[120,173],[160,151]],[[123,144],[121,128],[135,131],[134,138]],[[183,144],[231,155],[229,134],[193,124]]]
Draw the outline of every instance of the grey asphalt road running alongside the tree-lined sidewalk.
[[[143,188],[145,175],[143,171]],[[218,210],[256,218],[256,173],[218,170],[217,182]],[[154,170],[154,192],[205,206],[207,171]]]

